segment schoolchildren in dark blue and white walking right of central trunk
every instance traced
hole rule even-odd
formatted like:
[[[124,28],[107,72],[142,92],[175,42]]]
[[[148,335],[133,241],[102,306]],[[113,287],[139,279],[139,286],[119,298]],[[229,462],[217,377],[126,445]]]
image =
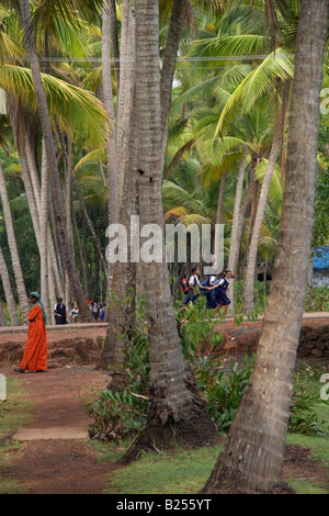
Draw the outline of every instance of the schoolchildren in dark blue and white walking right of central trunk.
[[[184,310],[189,303],[195,303],[195,300],[204,294],[206,296],[206,307],[218,312],[225,307],[225,317],[227,316],[230,300],[227,296],[229,279],[234,278],[230,270],[220,272],[217,276],[209,276],[207,280],[200,282],[200,267],[192,268],[192,276],[184,278],[181,283],[182,292],[185,295],[183,301]]]

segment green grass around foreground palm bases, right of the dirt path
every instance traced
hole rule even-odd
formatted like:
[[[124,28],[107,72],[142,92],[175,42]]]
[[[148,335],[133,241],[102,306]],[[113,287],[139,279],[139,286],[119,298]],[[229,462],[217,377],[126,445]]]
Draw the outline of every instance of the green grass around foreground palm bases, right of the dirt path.
[[[307,394],[319,393],[321,384],[318,378],[299,380],[298,385]],[[328,423],[329,408],[319,396],[319,403],[314,407],[319,418]],[[291,474],[286,481],[297,494],[328,494],[329,486],[329,438],[322,436],[305,436],[288,434],[287,445],[296,445],[310,450],[310,458],[322,462],[324,471],[320,480],[299,478],[299,473]],[[145,453],[138,461],[118,469],[111,475],[106,493],[116,494],[196,494],[205,485],[222,446],[201,448],[196,451],[175,451]],[[115,451],[111,445],[100,445],[102,460],[116,460],[124,450]],[[102,450],[102,451],[101,451]],[[106,456],[107,450],[107,456]],[[319,468],[320,469],[320,468]],[[299,476],[298,476],[299,475]]]

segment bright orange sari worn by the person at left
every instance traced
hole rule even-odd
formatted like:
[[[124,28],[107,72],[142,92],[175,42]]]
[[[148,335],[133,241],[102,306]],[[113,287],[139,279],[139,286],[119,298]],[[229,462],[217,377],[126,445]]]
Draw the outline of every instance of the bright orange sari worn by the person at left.
[[[44,371],[47,369],[47,333],[44,314],[38,304],[33,306],[27,321],[27,340],[20,368],[29,371]]]

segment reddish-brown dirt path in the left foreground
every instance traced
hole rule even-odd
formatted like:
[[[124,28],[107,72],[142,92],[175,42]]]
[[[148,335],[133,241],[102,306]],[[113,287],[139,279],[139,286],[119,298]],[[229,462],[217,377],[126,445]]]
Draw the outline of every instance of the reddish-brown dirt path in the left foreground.
[[[104,389],[109,375],[91,367],[72,367],[19,378],[35,410],[32,423],[13,436],[22,447],[11,473],[31,494],[101,494],[115,465],[95,461],[88,446],[91,420],[80,400],[91,397],[92,389]]]

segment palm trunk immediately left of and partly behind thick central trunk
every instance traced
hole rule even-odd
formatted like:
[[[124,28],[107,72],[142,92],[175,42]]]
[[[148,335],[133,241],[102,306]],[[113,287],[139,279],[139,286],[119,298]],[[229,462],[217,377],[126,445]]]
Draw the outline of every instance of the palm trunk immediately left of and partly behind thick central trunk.
[[[135,19],[133,11],[124,2],[123,12],[128,16],[129,21],[123,21],[124,25],[129,25],[129,31],[124,32],[122,37],[123,53],[124,47],[129,48],[129,64],[125,64],[124,77],[121,77],[121,94],[125,92],[125,109],[120,112],[120,125],[124,128],[121,141],[117,142],[117,170],[120,177],[120,210],[118,223],[128,232],[131,227],[131,215],[136,214],[136,105],[135,105]],[[127,9],[126,9],[127,8]],[[131,254],[131,245],[127,245],[127,251]],[[124,300],[127,299],[128,290],[135,290],[136,282],[136,263],[129,259],[123,263],[116,261],[111,263],[113,270],[113,279],[111,284],[111,293],[113,300],[111,310],[107,314],[107,332],[104,347],[101,356],[100,368],[106,369],[109,364],[114,367],[124,359],[124,338],[123,334],[129,334],[133,328],[134,314],[133,310],[125,305]],[[112,389],[121,388],[120,374],[114,370],[112,374]]]

